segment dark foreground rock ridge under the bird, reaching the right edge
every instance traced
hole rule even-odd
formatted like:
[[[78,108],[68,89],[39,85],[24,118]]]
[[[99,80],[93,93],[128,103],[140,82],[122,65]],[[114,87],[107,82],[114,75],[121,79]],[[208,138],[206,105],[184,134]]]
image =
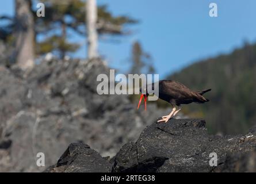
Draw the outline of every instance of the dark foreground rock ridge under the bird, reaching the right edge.
[[[255,129],[246,135],[212,136],[208,135],[204,120],[171,119],[166,124],[153,123],[145,128],[136,143],[125,144],[104,166],[112,164],[112,172],[118,173],[255,172],[255,146]],[[209,164],[213,152],[217,155],[217,166]],[[70,163],[72,159],[66,157]],[[60,160],[64,158],[62,156]],[[88,159],[86,157],[85,162],[89,162]],[[67,168],[70,167],[68,163],[65,166]],[[76,172],[89,170],[89,167],[78,162],[77,165],[72,164],[72,168]],[[58,169],[57,164],[48,171]]]

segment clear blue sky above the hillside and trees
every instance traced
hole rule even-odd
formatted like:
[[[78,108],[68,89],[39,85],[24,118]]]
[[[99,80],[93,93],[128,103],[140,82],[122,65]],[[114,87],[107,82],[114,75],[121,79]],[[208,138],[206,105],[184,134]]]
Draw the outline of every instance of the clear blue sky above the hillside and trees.
[[[1,0],[0,14],[12,14],[13,2]],[[211,2],[217,3],[218,17],[209,17]],[[256,41],[255,0],[98,0],[98,4],[107,4],[114,15],[140,21],[120,43],[100,41],[101,55],[120,72],[128,69],[135,40],[151,54],[161,79],[197,60],[229,53],[244,40]],[[85,57],[85,41],[77,36],[72,40],[83,44],[73,56]]]

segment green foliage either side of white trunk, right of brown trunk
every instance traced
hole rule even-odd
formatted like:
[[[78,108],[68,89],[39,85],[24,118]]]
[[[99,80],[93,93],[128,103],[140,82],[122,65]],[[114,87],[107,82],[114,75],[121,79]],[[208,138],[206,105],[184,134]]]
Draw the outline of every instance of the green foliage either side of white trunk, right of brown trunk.
[[[68,42],[67,32],[74,30],[75,33],[86,36],[85,2],[82,0],[63,2],[43,0],[42,2],[45,3],[45,15],[47,16],[38,18],[35,12],[37,35],[48,34],[58,29],[61,30],[61,33],[51,34],[45,41],[40,42],[37,45],[37,53],[41,55],[47,52],[58,52],[60,57],[64,57],[67,52],[75,52],[79,45]],[[122,35],[125,33],[123,25],[134,23],[136,21],[127,16],[113,16],[107,10],[106,5],[98,7],[97,31],[99,34]]]

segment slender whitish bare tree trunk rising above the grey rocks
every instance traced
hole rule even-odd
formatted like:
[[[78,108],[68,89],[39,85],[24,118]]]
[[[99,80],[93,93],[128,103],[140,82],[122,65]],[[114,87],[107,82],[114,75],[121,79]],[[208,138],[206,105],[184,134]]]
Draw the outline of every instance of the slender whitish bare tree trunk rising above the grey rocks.
[[[97,35],[97,3],[96,0],[87,0],[86,3],[86,28],[87,28],[87,56],[89,59],[98,56]]]

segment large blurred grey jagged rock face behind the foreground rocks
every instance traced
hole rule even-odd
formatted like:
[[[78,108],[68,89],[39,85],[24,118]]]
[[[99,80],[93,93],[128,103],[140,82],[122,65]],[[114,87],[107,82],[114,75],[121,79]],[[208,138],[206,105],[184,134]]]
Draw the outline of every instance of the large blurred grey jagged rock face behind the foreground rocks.
[[[74,142],[114,156],[169,113],[154,105],[137,111],[124,95],[98,95],[97,75],[108,72],[101,60],[49,60],[29,74],[0,66],[0,172],[43,171],[38,152],[47,167]]]

